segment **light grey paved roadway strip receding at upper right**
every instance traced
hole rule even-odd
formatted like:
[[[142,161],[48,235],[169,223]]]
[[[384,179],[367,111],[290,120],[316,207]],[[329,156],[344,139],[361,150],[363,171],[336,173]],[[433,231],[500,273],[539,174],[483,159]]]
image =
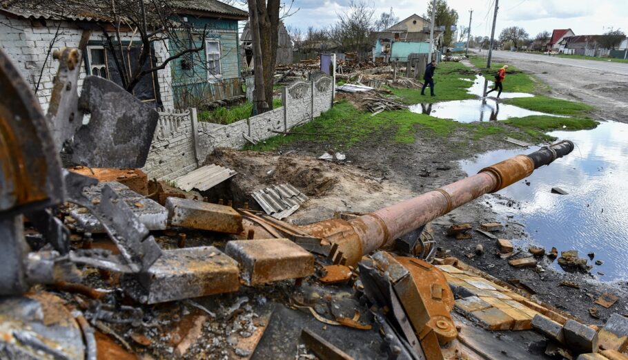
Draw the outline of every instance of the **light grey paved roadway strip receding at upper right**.
[[[487,55],[487,50],[482,50],[478,55]],[[570,59],[566,57],[538,55],[529,53],[515,53],[513,51],[493,51],[495,59],[511,59],[524,61],[547,62],[550,64],[575,66],[577,68],[585,68],[589,70],[598,70],[606,73],[615,73],[618,75],[628,76],[628,63],[597,61],[585,59]]]

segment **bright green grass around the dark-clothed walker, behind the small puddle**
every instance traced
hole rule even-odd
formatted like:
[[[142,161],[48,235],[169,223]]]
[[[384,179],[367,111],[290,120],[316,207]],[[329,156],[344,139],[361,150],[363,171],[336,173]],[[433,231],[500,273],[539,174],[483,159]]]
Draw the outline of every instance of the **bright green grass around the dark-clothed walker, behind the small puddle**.
[[[420,89],[415,88],[394,88],[391,89],[394,95],[402,98],[405,104],[433,103],[448,100],[473,99],[473,95],[467,93],[473,83],[465,82],[462,79],[474,79],[473,70],[467,68],[459,62],[441,62],[436,67],[434,73],[434,93],[436,96],[429,96],[429,89],[425,89],[427,95],[421,95]],[[419,79],[423,82],[423,78]]]

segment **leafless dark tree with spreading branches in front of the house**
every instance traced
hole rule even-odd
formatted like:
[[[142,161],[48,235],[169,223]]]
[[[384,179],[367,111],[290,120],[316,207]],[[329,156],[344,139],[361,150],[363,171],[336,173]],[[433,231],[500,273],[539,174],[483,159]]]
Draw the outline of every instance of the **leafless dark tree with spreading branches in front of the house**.
[[[16,0],[11,3],[12,7],[23,10],[90,14],[101,19],[97,23],[99,28],[92,32],[101,32],[103,46],[112,55],[121,86],[128,92],[133,92],[142,78],[166,68],[171,61],[204,50],[206,29],[186,26],[177,15],[181,5],[184,3],[176,0]],[[128,33],[132,34],[130,38],[125,36]],[[161,64],[149,61],[154,55],[153,44],[157,42],[173,45],[168,46],[170,56]],[[137,61],[133,63],[129,57],[132,47],[138,51]]]

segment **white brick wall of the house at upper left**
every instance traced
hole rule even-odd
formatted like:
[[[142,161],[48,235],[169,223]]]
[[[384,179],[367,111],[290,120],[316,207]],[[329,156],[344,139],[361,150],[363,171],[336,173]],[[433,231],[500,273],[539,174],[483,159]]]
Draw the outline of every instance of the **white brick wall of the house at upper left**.
[[[59,32],[57,33],[57,28]],[[55,39],[55,34],[57,38]],[[0,48],[12,59],[20,70],[21,75],[30,84],[32,91],[35,91],[39,75],[39,88],[35,94],[39,100],[44,113],[48,111],[48,103],[52,95],[52,79],[57,74],[59,61],[52,59],[52,52],[63,47],[77,47],[81,41],[83,30],[79,29],[75,23],[70,21],[46,21],[46,26],[39,21],[30,21],[21,18],[7,17],[0,15]],[[130,32],[121,32],[123,41],[130,41]],[[50,50],[50,55],[46,57],[50,43],[55,39]],[[102,42],[102,35],[99,32],[92,32],[90,41]],[[135,39],[137,41],[137,38]],[[163,44],[155,42],[155,55],[157,61],[162,61],[168,57],[168,49]],[[42,71],[43,68],[43,71]],[[81,63],[81,73],[79,75],[79,91],[86,77],[86,68]],[[170,88],[171,75],[170,66],[164,70],[157,71],[159,82],[159,93],[164,106],[173,107],[173,92]]]

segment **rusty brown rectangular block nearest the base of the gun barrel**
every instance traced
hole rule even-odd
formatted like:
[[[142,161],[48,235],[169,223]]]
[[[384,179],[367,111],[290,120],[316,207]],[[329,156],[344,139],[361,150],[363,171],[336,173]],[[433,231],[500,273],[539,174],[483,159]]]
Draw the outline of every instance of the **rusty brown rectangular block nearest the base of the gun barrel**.
[[[259,285],[314,273],[314,256],[286,238],[233,240],[225,252],[242,267],[246,285]]]

